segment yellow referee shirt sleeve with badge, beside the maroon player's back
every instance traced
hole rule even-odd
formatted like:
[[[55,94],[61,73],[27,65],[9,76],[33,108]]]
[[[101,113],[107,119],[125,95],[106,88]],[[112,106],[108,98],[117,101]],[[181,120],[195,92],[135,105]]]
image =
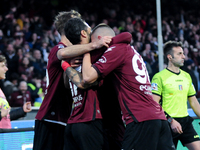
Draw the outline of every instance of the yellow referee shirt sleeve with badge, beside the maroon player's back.
[[[159,74],[155,74],[151,81],[152,93],[161,96],[162,93],[162,80]]]

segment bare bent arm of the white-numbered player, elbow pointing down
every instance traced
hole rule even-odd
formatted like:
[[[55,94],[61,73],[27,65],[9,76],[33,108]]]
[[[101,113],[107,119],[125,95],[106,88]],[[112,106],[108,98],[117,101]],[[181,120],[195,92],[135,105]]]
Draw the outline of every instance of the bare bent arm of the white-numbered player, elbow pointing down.
[[[82,64],[83,80],[85,83],[93,83],[99,77],[97,71],[92,67],[90,53],[86,53],[83,57]]]

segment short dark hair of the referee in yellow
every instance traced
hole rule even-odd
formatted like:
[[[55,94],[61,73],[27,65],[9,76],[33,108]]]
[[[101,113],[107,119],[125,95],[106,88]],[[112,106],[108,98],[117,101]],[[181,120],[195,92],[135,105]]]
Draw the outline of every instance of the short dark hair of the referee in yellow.
[[[168,63],[168,58],[167,55],[170,54],[172,57],[174,57],[174,53],[173,53],[173,48],[174,47],[183,47],[181,42],[177,42],[177,41],[168,41],[164,44],[164,59],[165,62]]]

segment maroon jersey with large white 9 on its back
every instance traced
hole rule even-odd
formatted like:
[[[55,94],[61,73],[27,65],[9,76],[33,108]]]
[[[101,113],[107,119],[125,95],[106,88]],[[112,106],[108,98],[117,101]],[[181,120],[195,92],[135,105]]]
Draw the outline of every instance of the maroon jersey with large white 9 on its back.
[[[166,120],[162,107],[153,100],[145,63],[129,44],[131,38],[128,32],[115,36],[93,67],[102,77],[110,72],[114,74],[112,79],[126,124],[132,121]]]

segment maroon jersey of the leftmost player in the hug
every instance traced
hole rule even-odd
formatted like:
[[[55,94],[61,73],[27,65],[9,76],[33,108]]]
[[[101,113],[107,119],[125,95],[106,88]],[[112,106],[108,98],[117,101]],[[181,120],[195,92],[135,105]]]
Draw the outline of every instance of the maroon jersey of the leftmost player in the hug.
[[[50,51],[46,71],[47,88],[36,119],[66,125],[71,112],[72,98],[70,90],[64,86],[61,60],[57,58],[58,50],[64,47],[60,42]]]

